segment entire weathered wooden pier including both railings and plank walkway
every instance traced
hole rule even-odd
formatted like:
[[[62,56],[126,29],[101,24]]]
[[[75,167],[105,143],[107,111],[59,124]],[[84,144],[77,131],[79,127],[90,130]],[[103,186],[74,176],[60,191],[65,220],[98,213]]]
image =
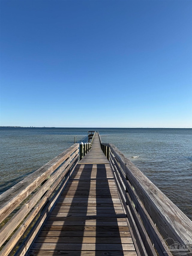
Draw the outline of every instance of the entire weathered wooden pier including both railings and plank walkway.
[[[0,256],[191,256],[192,221],[99,133],[89,139],[0,195]]]

